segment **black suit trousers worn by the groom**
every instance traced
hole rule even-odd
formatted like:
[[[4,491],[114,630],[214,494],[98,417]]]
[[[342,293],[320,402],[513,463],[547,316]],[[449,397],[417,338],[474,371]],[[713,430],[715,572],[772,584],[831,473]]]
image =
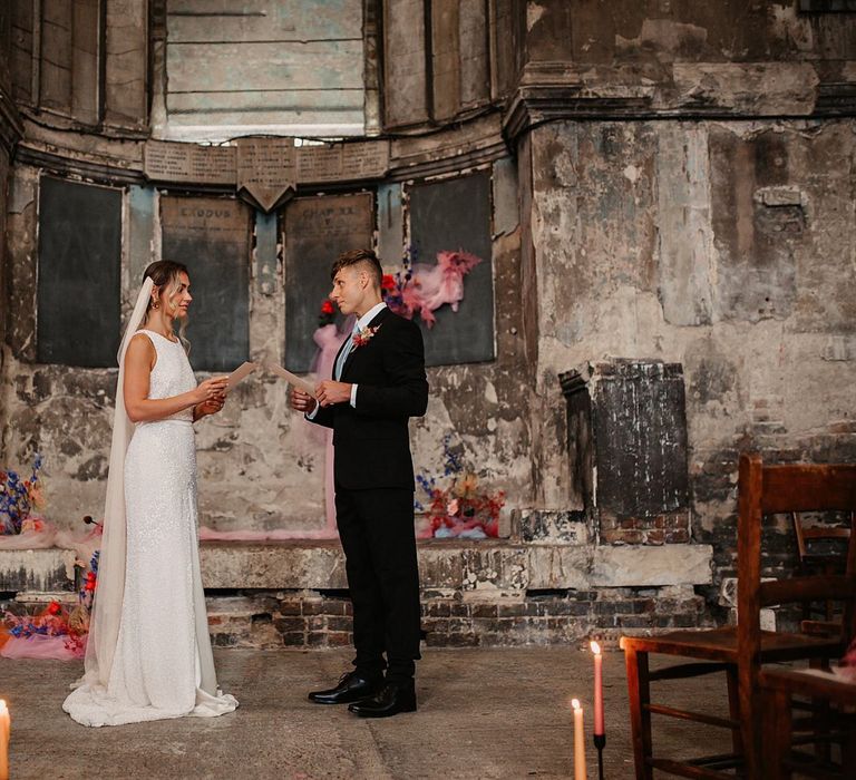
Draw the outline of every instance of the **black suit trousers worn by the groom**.
[[[387,666],[388,680],[409,679],[420,657],[414,491],[337,486],[335,515],[353,604],[353,663],[363,674]]]

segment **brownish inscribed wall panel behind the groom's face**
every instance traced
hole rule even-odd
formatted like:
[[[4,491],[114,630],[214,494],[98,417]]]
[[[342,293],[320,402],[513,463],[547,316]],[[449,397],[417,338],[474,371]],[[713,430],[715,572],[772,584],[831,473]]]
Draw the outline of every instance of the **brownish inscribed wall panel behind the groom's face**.
[[[330,266],[348,250],[370,248],[374,196],[327,195],[292,201],[285,208],[285,367],[312,367],[321,303],[331,289]]]

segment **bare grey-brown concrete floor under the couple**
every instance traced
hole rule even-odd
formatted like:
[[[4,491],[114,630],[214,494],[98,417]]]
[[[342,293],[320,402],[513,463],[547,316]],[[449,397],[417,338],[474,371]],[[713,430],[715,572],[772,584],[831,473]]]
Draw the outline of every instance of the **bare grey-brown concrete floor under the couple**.
[[[362,720],[319,706],[307,692],[348,669],[344,651],[215,651],[237,712],[86,729],[60,704],[80,665],[0,659],[0,698],[12,713],[12,780],[51,778],[567,778],[573,774],[570,700],[586,708],[588,777],[592,657],[572,649],[429,650],[419,664],[419,711]],[[720,675],[670,683],[669,702],[726,712]],[[604,657],[605,777],[633,777],[624,657]],[[710,734],[716,739],[711,740]],[[728,735],[658,719],[655,745],[685,754],[704,734],[711,752]]]

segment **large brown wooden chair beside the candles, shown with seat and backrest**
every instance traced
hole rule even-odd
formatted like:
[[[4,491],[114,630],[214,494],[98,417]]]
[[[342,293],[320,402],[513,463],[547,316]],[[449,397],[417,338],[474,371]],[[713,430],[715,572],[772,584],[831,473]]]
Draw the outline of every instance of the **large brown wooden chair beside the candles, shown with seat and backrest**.
[[[653,770],[688,778],[761,780],[758,674],[762,663],[819,660],[828,663],[842,654],[854,630],[856,583],[847,575],[817,575],[761,582],[761,519],[789,511],[856,509],[856,465],[765,466],[760,456],[740,458],[738,500],[738,621],[712,631],[674,631],[659,636],[624,636],[630,694],[631,728],[636,778],[651,780]],[[850,537],[848,559],[856,555]],[[807,635],[761,631],[760,612],[782,603],[825,598],[846,602],[838,635]],[[679,665],[651,672],[649,654],[688,659]],[[728,682],[727,718],[678,710],[651,701],[650,684],[722,671]],[[732,753],[690,761],[655,755],[651,715],[668,715],[723,727],[731,731]]]

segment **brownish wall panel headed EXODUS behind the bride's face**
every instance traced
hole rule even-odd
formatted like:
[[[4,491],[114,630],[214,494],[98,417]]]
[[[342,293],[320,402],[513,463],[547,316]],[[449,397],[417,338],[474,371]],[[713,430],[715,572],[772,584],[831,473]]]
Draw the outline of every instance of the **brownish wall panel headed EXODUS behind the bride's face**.
[[[213,197],[160,198],[163,259],[191,276],[191,364],[232,371],[250,354],[250,208]]]

